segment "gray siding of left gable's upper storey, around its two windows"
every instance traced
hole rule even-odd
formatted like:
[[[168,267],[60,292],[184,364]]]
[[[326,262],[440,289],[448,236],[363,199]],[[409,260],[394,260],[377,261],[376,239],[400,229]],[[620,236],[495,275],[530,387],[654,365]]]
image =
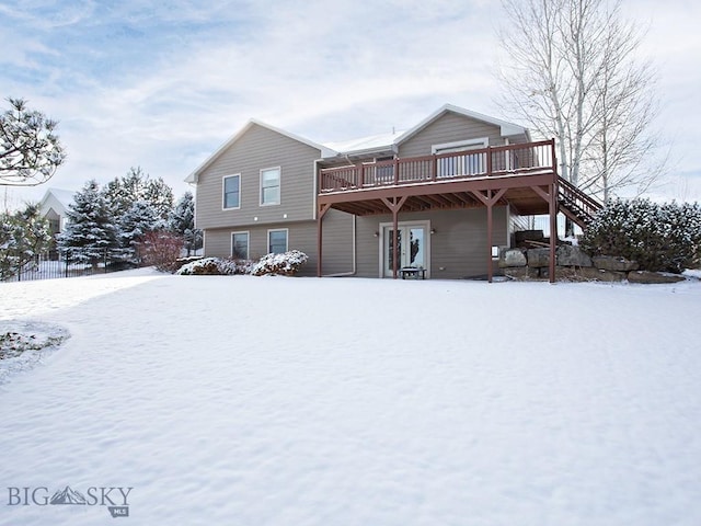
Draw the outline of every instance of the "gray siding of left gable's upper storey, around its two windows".
[[[314,160],[320,155],[315,148],[252,124],[199,175],[197,228],[204,230],[254,222],[268,225],[283,220],[313,219]],[[274,167],[280,167],[280,204],[261,206],[261,170]],[[241,174],[241,207],[223,210],[222,180],[226,175],[238,173]]]

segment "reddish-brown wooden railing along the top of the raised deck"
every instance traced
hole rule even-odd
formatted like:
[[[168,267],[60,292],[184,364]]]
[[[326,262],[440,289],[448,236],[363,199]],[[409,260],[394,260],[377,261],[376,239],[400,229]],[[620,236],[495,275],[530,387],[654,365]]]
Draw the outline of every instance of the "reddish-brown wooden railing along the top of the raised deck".
[[[319,172],[319,192],[347,192],[390,185],[556,172],[553,140],[479,150],[364,162]]]

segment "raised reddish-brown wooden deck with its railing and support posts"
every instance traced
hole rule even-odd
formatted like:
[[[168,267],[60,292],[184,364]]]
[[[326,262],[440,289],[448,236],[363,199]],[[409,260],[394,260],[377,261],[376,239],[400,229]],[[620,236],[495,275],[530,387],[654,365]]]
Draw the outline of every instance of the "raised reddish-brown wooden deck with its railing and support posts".
[[[550,282],[555,279],[558,171],[554,140],[421,158],[322,168],[317,195],[317,274],[322,275],[323,217],[330,209],[356,216],[392,214],[397,247],[400,213],[486,208],[485,261],[493,279],[493,207],[509,204],[519,215],[550,216]],[[392,275],[399,275],[393,259]]]

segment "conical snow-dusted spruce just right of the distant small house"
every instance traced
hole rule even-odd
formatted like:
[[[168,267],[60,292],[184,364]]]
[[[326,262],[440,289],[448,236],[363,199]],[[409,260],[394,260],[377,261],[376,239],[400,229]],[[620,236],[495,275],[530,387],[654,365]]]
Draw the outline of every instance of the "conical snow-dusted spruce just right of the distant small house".
[[[72,259],[96,266],[117,248],[114,217],[96,181],[89,181],[76,194],[67,216],[68,225],[58,236],[58,245],[70,251]]]

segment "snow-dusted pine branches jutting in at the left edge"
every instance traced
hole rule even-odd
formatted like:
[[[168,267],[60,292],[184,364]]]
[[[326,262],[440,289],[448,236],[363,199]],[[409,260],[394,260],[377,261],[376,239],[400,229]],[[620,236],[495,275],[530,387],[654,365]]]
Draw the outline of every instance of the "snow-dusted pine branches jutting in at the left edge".
[[[27,108],[22,99],[8,101],[12,107],[0,114],[0,185],[45,183],[66,159],[57,123]]]

